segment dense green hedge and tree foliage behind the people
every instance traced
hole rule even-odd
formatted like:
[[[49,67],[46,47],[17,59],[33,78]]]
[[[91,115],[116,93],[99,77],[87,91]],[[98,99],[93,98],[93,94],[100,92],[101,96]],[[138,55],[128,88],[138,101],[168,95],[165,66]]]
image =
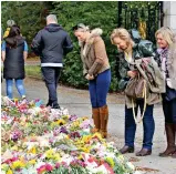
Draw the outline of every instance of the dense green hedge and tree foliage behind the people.
[[[138,7],[146,8],[155,2],[125,2],[131,9]],[[21,28],[22,34],[30,44],[35,33],[45,25],[45,17],[55,13],[59,23],[69,32],[72,38],[74,50],[64,58],[64,68],[61,75],[63,84],[76,88],[87,88],[87,81],[82,74],[82,62],[80,48],[76,38],[73,35],[72,27],[77,23],[85,23],[91,29],[103,29],[103,40],[105,41],[107,55],[112,70],[111,91],[117,91],[117,79],[115,76],[116,48],[111,44],[110,35],[117,27],[117,1],[2,1],[1,2],[2,28],[7,28],[7,20],[13,19]],[[125,16],[123,13],[123,16]],[[31,70],[30,73],[34,73]],[[40,73],[37,74],[38,76]]]

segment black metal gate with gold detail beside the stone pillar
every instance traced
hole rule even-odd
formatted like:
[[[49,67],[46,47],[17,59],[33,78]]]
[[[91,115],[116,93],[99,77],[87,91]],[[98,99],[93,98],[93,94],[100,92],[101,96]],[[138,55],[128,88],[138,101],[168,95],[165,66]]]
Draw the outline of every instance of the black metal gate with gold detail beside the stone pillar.
[[[117,27],[137,29],[143,39],[155,42],[155,32],[163,27],[163,2],[118,1]]]

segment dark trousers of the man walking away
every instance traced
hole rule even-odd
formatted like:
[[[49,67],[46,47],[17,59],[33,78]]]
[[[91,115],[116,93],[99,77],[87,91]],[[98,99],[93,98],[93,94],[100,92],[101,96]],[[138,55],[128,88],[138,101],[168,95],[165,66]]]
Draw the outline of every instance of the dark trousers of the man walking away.
[[[52,103],[53,106],[58,105],[56,88],[61,74],[61,69],[62,68],[54,68],[54,66],[41,68],[43,80],[49,91],[49,101]]]

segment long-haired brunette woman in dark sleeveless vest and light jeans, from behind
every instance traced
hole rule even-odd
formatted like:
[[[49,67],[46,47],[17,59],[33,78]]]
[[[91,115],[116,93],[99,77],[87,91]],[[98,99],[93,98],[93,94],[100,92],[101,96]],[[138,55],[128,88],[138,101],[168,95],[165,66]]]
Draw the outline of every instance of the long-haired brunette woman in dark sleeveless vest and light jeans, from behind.
[[[21,37],[20,28],[12,25],[9,35],[2,42],[3,78],[6,79],[7,95],[10,99],[13,99],[13,80],[20,96],[25,99],[23,79],[27,57],[28,44]]]

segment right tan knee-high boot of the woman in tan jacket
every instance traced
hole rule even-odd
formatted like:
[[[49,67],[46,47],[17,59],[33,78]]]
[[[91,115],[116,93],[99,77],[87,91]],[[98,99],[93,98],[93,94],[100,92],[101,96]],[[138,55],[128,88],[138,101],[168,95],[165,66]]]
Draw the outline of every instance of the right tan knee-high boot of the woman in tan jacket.
[[[104,105],[100,108],[100,116],[101,116],[101,134],[102,137],[107,137],[107,121],[108,121],[108,108]]]

